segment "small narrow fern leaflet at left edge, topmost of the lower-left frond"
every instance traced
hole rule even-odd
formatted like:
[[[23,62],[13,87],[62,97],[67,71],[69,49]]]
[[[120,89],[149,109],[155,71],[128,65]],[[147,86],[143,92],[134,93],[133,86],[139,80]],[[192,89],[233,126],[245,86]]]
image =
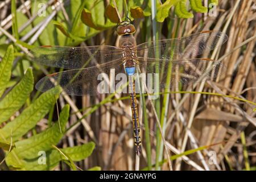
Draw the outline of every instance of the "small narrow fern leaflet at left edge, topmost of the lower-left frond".
[[[14,50],[13,46],[10,45],[7,48],[3,60],[0,62],[0,97],[6,88],[6,83],[9,82],[11,77],[11,67],[13,67]]]

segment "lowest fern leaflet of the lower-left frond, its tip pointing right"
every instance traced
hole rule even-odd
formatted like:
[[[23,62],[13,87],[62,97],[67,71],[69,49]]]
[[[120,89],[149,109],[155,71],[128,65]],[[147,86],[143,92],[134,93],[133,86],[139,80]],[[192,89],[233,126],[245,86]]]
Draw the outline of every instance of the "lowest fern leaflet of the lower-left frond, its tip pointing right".
[[[95,144],[93,142],[89,142],[86,144],[82,144],[81,146],[76,146],[76,147],[69,147],[69,148],[63,148],[60,149],[64,154],[68,155],[69,158],[72,161],[80,161],[82,159],[88,158],[94,150]],[[11,153],[10,153],[11,154]],[[41,156],[42,158],[42,156]],[[12,161],[6,160],[7,165],[9,166],[9,162],[12,162],[15,164],[15,158],[14,156],[11,158]],[[38,160],[40,160],[40,157],[37,159],[29,159],[29,160],[22,160],[22,163],[20,164],[15,164],[16,168],[20,168],[21,170],[34,170],[34,171],[41,171],[41,170],[51,170],[61,160],[67,160],[63,155],[60,154],[59,151],[56,150],[50,150],[46,152],[46,164],[39,164]]]

